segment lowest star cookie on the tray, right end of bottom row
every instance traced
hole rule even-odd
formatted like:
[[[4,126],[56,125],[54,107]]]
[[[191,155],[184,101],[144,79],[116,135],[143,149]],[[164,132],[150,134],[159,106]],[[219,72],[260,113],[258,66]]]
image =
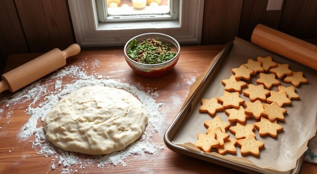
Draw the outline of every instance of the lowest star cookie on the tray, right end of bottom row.
[[[237,140],[237,144],[241,147],[241,155],[251,154],[256,157],[260,155],[260,149],[264,147],[264,143],[256,140],[252,135],[245,139]]]

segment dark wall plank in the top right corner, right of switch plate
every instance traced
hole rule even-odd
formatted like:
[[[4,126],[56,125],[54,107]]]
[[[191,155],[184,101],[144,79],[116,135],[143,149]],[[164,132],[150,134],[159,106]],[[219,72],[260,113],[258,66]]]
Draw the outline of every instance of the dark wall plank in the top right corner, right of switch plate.
[[[317,1],[287,0],[279,30],[300,39],[317,38]]]

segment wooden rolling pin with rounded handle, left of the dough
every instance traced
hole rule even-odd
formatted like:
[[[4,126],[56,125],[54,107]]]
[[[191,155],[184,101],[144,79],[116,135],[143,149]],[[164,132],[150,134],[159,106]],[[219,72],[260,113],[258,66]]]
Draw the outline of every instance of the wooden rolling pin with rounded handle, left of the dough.
[[[0,93],[4,90],[15,92],[39,78],[66,65],[66,59],[80,52],[78,44],[72,44],[61,51],[55,48],[5,74],[0,82]]]

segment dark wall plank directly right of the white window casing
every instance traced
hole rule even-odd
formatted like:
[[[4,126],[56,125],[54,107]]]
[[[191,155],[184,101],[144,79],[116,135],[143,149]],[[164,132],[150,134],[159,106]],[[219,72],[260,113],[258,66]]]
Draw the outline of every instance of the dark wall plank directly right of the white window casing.
[[[204,5],[202,44],[225,44],[238,34],[243,0],[208,0]]]

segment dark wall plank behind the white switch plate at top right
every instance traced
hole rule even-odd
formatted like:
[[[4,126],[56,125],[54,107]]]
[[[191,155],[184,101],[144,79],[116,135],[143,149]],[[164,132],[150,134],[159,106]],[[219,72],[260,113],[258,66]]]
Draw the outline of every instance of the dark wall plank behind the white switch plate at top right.
[[[285,1],[282,9],[284,4]],[[259,23],[274,29],[279,28],[282,10],[267,11],[267,5],[268,0],[243,0],[238,34],[240,38],[250,40],[253,29]]]

